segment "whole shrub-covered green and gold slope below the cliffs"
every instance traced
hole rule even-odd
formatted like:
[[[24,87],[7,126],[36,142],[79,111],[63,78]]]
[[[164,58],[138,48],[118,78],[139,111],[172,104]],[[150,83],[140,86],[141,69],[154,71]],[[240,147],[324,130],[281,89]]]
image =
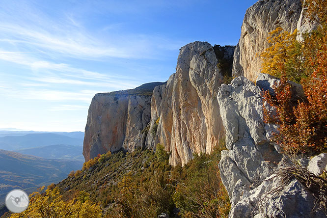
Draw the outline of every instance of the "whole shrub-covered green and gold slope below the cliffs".
[[[183,167],[170,166],[169,154],[160,144],[155,153],[139,148],[133,153],[99,155],[86,162],[82,171],[71,172],[67,179],[48,187],[47,192],[31,195],[29,208],[34,209],[19,217],[42,217],[46,205],[35,205],[39,201],[58,204],[58,210],[63,210],[55,203],[58,196],[57,202],[70,202],[76,204],[74,207],[86,202],[94,213],[101,208],[105,218],[154,218],[162,213],[182,218],[227,218],[230,203],[218,170],[222,144],[211,155],[195,155]]]

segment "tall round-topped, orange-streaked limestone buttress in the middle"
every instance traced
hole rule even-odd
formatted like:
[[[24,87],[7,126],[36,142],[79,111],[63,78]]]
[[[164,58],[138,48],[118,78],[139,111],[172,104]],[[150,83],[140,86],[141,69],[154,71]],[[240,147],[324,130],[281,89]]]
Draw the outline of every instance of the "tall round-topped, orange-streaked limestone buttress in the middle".
[[[193,153],[210,153],[223,136],[216,96],[224,73],[218,59],[230,61],[224,67],[230,73],[233,53],[231,46],[190,43],[180,49],[176,73],[155,88],[146,144],[154,148],[162,143],[171,153],[170,164],[186,164]]]

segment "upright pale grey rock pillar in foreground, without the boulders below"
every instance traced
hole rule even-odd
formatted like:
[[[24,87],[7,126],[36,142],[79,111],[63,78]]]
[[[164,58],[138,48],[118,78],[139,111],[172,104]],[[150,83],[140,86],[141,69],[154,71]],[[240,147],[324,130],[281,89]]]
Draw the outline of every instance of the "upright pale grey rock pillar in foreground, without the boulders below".
[[[237,77],[231,84],[221,85],[218,104],[228,149],[221,153],[219,168],[223,184],[232,197],[237,195],[233,194],[235,187],[256,186],[258,181],[269,177],[281,156],[268,139],[274,126],[263,122],[259,86]],[[234,198],[232,205],[237,202]]]

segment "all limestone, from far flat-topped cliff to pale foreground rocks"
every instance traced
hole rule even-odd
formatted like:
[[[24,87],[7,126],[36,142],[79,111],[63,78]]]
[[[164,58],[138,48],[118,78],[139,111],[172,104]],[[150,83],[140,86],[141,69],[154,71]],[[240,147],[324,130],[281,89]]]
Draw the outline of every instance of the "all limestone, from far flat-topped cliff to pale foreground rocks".
[[[259,0],[246,11],[236,47],[190,43],[180,49],[176,72],[166,83],[95,95],[85,127],[85,160],[161,143],[170,164],[186,164],[194,153],[210,153],[226,136],[219,168],[231,199],[230,218],[326,217],[311,212],[314,197],[299,181],[280,187],[274,174],[287,160],[271,142],[276,126],[263,122],[262,90],[273,92],[278,80],[260,74],[258,54],[269,46],[267,37],[276,27],[302,33],[314,25],[303,17],[301,0]],[[225,75],[240,77],[226,85]],[[291,85],[297,94],[292,100],[301,98],[301,87]],[[326,157],[317,160],[327,163]],[[276,187],[278,193],[272,192]]]

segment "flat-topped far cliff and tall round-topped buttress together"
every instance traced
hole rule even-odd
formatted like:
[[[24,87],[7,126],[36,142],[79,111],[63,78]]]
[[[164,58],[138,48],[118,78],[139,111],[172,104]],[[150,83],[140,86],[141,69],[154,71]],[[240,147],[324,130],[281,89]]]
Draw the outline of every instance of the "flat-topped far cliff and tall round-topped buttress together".
[[[232,46],[193,42],[181,48],[176,73],[166,83],[151,83],[153,92],[138,93],[138,87],[95,95],[85,127],[85,160],[136,146],[155,149],[158,143],[173,165],[186,164],[193,153],[210,153],[224,135],[216,96],[223,76],[231,75],[233,54]]]

